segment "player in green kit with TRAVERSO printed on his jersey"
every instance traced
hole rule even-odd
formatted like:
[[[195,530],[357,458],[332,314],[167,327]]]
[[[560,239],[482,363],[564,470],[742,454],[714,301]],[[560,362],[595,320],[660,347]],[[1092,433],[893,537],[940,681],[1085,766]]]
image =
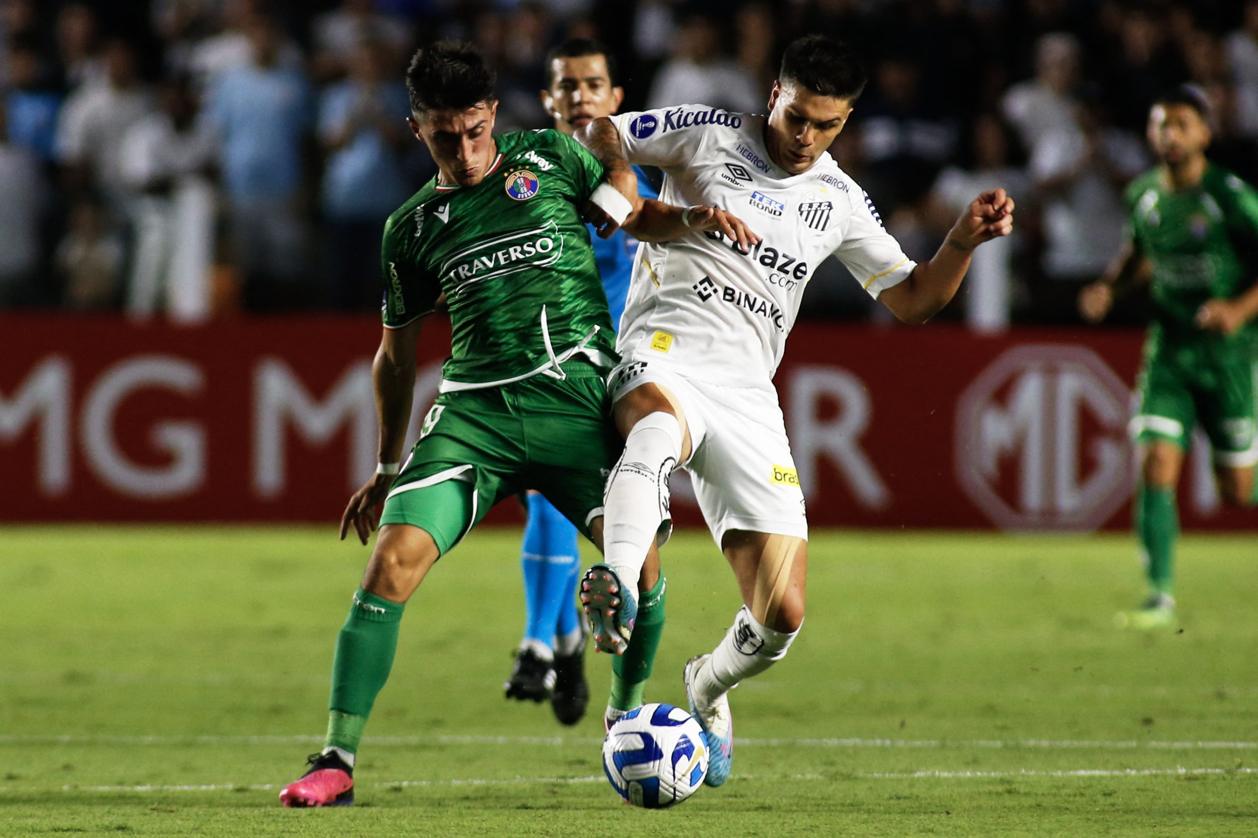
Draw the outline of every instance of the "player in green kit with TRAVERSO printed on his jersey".
[[[385,332],[372,365],[380,466],[341,520],[342,539],[352,526],[367,544],[384,502],[380,536],[337,637],[326,745],[281,791],[286,807],[353,802],[355,754],[405,603],[489,507],[537,489],[601,549],[603,487],[621,443],[604,383],[614,332],[585,221],[604,237],[620,223],[645,240],[696,228],[747,237],[722,210],[640,201],[632,171],[605,172],[557,131],[494,136],[493,83],[483,55],[452,42],[421,49],[406,72],[409,125],[439,175],[385,224]],[[450,357],[400,463],[419,322],[442,298]],[[639,585],[659,580],[657,556]]]

